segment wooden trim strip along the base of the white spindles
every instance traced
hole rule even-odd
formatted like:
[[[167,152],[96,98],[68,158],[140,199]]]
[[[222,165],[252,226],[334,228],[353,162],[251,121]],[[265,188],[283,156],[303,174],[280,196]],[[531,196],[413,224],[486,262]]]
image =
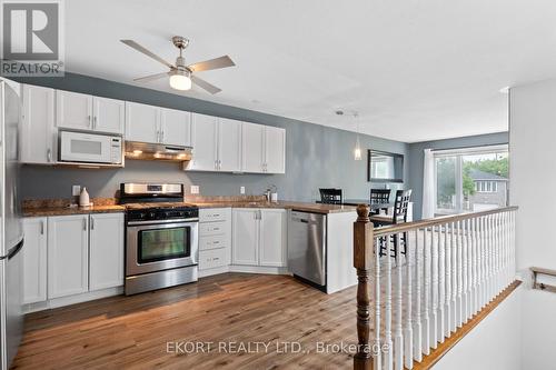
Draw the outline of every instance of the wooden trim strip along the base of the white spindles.
[[[414,370],[428,370],[431,369],[450,349],[454,348],[465,336],[467,336],[476,326],[479,324],[490,312],[494,311],[506,298],[509,297],[519,286],[520,280],[515,280],[506,289],[504,289],[496,298],[488,303],[483,310],[477,312],[469,321],[458,328],[450,338],[445,338],[443,343],[430,350],[430,354],[424,356],[423,361],[414,361]]]

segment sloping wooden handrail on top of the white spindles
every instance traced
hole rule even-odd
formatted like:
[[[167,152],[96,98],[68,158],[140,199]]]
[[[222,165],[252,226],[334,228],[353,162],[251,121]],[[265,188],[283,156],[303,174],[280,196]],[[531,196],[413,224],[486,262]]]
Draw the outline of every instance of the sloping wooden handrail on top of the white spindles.
[[[360,206],[365,206],[365,204],[360,204]],[[468,220],[468,219],[473,219],[473,218],[477,218],[477,217],[483,217],[483,216],[488,216],[488,214],[512,212],[512,211],[516,211],[517,209],[518,209],[517,206],[510,206],[510,207],[497,208],[497,209],[493,209],[493,210],[488,210],[488,211],[440,216],[440,217],[435,217],[434,219],[425,219],[425,220],[419,220],[419,221],[405,222],[405,223],[398,223],[398,224],[394,224],[394,226],[386,226],[386,227],[381,227],[381,228],[376,228],[374,233],[375,233],[375,237],[385,237],[385,236],[390,236],[390,234],[399,233],[399,232],[404,232],[404,231],[423,229],[423,228],[434,227],[434,226],[444,224],[444,223],[448,223],[448,222],[464,221],[464,220]]]

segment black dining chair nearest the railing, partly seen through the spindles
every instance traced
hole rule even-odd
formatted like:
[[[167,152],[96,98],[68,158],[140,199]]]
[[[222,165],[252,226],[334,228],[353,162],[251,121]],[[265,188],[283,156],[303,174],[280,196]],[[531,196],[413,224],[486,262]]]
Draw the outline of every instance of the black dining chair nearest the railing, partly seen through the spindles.
[[[394,212],[387,216],[373,214],[370,217],[370,222],[375,227],[390,226],[407,222],[407,210],[409,208],[409,201],[411,200],[411,189],[408,190],[397,190],[396,198],[394,201]],[[390,249],[390,257],[398,258],[398,250],[400,254],[406,254],[407,252],[407,232],[400,232],[391,236],[393,248]],[[380,256],[386,256],[386,240],[380,238]]]

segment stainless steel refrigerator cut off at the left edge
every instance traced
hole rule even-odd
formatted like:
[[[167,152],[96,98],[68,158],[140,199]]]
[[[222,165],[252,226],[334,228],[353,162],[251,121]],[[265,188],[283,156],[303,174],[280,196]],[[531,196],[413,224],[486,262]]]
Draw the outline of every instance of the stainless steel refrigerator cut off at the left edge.
[[[18,199],[20,98],[0,79],[0,369],[8,369],[22,336],[23,231]]]

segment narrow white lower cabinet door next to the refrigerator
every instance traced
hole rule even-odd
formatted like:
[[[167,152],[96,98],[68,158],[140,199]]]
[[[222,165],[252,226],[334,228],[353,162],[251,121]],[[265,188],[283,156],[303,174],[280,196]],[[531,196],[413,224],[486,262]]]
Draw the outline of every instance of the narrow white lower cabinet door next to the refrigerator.
[[[23,219],[23,303],[47,300],[47,218]]]

